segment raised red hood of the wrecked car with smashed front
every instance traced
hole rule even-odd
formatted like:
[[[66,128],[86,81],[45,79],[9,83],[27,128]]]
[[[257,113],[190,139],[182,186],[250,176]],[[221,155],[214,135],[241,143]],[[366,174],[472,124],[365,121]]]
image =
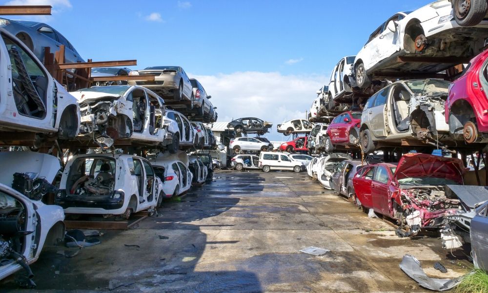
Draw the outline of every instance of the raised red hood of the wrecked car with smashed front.
[[[460,159],[408,153],[398,162],[393,180],[408,177],[436,177],[447,178],[462,184],[465,171],[466,168]]]

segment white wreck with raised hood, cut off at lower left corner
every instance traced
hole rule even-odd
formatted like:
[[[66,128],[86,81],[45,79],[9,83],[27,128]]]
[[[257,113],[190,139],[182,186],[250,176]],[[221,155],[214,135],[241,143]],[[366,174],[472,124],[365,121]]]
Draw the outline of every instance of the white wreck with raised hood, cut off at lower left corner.
[[[64,238],[62,208],[41,202],[55,190],[60,162],[30,151],[2,152],[0,161],[10,166],[0,169],[0,280],[23,269],[21,285],[34,287],[29,264]]]

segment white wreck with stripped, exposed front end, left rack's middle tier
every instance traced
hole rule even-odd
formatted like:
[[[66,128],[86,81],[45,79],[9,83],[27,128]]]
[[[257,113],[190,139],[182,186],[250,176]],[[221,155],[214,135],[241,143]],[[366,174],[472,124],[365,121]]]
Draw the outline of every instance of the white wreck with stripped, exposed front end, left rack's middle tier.
[[[81,107],[81,138],[94,140],[103,148],[131,139],[135,144],[178,150],[178,125],[165,117],[164,101],[147,88],[96,86],[72,94]]]

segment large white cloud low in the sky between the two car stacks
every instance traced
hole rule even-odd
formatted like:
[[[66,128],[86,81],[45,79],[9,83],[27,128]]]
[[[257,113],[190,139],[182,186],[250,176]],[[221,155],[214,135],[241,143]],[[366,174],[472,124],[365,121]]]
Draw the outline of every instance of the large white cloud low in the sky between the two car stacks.
[[[282,75],[279,72],[235,72],[218,75],[193,75],[203,85],[217,107],[218,121],[257,117],[273,123],[267,137],[290,139],[276,132],[276,125],[294,118],[306,118],[325,83],[322,75]]]

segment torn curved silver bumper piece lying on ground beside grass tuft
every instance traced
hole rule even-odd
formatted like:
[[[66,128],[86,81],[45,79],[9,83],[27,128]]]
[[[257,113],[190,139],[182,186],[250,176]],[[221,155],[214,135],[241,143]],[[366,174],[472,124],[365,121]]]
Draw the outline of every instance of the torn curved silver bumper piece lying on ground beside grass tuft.
[[[400,263],[400,269],[410,278],[415,280],[420,286],[435,291],[446,291],[456,287],[466,275],[454,279],[437,279],[427,276],[422,269],[420,261],[412,255],[404,255]]]

